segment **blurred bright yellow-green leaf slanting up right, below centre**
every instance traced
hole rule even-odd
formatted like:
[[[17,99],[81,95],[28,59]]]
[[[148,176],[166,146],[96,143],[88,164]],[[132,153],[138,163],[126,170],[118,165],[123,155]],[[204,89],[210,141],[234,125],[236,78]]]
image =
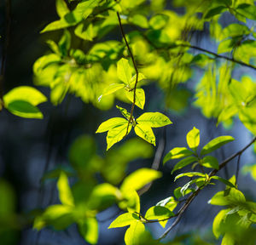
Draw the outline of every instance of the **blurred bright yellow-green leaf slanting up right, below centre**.
[[[162,174],[151,168],[140,168],[128,175],[123,184],[120,187],[121,191],[129,190],[139,190],[143,188],[144,185],[154,181],[154,179],[159,179]]]

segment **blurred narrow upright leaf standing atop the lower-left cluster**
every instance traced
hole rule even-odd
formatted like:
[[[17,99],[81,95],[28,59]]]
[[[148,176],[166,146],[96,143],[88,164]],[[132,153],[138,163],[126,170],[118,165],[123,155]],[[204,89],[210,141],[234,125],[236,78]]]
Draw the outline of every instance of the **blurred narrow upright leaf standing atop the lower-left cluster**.
[[[67,175],[61,172],[60,177],[57,182],[57,187],[59,191],[59,198],[62,204],[73,206],[73,194],[68,185]]]

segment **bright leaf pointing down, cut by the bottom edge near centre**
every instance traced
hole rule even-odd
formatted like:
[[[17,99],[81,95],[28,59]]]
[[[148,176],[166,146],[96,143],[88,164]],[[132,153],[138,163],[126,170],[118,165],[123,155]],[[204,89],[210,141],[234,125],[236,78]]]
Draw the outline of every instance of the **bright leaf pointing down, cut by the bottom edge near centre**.
[[[125,232],[125,245],[142,244],[141,237],[145,232],[145,226],[141,221],[134,221]]]

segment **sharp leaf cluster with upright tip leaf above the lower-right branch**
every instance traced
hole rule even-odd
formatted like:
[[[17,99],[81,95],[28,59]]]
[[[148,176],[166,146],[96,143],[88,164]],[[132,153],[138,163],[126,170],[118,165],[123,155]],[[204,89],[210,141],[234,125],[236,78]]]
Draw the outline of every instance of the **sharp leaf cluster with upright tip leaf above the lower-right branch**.
[[[184,176],[187,176],[190,178],[197,177],[197,179],[192,179],[187,184],[183,185],[183,187],[178,187],[178,189],[175,192],[180,191],[180,193],[184,196],[191,191],[192,192],[195,191],[194,188],[191,188],[191,185],[195,184],[198,188],[202,188],[205,185],[212,184],[211,183],[212,179],[218,179],[219,181],[223,182],[225,185],[234,187],[234,185],[232,185],[230,181],[228,181],[227,179],[223,179],[216,175],[209,177],[208,174],[204,173],[204,169],[203,169],[203,168],[218,169],[218,159],[216,157],[206,156],[206,155],[208,155],[209,153],[212,153],[212,151],[216,151],[219,147],[233,140],[234,138],[231,136],[219,136],[211,140],[210,142],[208,142],[207,145],[204,145],[201,149],[201,152],[198,154],[197,149],[200,144],[200,130],[195,127],[191,129],[187,134],[187,144],[189,145],[189,149],[187,149],[186,147],[175,147],[166,154],[166,157],[164,157],[163,162],[165,164],[167,161],[185,157],[179,162],[177,162],[174,168],[172,168],[172,174],[174,171],[177,171],[181,168],[189,166],[192,163],[194,163],[192,165],[192,169],[194,169],[196,166],[200,166],[202,173],[189,172],[189,173],[178,174],[175,177],[174,181]]]

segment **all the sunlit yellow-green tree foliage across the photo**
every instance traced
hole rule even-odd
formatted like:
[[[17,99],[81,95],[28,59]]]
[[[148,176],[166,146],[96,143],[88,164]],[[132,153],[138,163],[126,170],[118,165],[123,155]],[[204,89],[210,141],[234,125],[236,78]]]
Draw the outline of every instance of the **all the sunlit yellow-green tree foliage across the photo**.
[[[92,138],[81,136],[69,151],[72,170],[56,168],[44,175],[42,181],[57,180],[60,203],[34,215],[33,228],[64,230],[75,223],[84,240],[96,244],[97,214],[115,203],[124,213],[116,217],[108,229],[127,226],[124,241],[128,245],[159,244],[199,192],[220,181],[225,185],[224,191],[218,191],[208,202],[223,207],[212,220],[213,235],[221,239],[222,244],[245,244],[243,241],[253,244],[256,241],[255,202],[247,201],[245,194],[238,190],[238,173],[230,179],[217,174],[235,157],[239,162],[241,154],[256,138],[221,162],[214,152],[230,144],[235,140],[233,137],[221,135],[201,145],[205,132],[194,125],[190,125],[190,130],[184,129],[188,147],[177,145],[167,149],[169,152],[162,162],[172,164],[172,174],[178,172],[174,181],[183,178],[186,184],[148,208],[145,214],[141,211],[140,191],[162,174],[154,168],[139,168],[126,174],[129,162],[151,156],[149,144],[160,145],[153,128],[172,130],[171,124],[175,123],[172,115],[185,113],[189,101],[193,101],[204,117],[212,119],[216,127],[222,124],[229,128],[239,120],[245,127],[243,130],[256,136],[256,85],[247,75],[247,71],[256,71],[256,32],[250,27],[256,20],[253,0],[174,0],[172,3],[56,0],[55,6],[59,18],[45,26],[41,33],[57,31],[61,37],[49,39],[46,42],[49,52],[35,61],[35,85],[49,88],[53,105],[61,104],[67,94],[73,94],[100,110],[117,104],[118,116],[109,116],[97,125],[96,133],[107,132],[105,157],[97,155]],[[222,26],[223,18],[230,18],[227,26]],[[113,31],[119,31],[119,38],[112,38]],[[205,32],[208,33],[205,38],[216,52],[195,43],[193,37]],[[239,77],[235,71],[240,71]],[[143,111],[151,100],[146,91],[152,84],[163,92],[163,111]],[[188,91],[186,86],[193,89]],[[15,116],[44,117],[38,105],[47,98],[36,88],[13,88],[1,100],[3,108]],[[166,115],[171,115],[172,121]],[[137,139],[126,140],[132,129]],[[126,141],[121,143],[123,139]],[[176,159],[178,162],[174,164]],[[188,166],[192,169],[190,172],[186,172]],[[246,171],[255,179],[255,165],[247,166]],[[104,183],[98,182],[96,173],[103,176]],[[73,177],[73,185],[69,177]],[[4,196],[8,188],[3,189],[2,185],[5,183],[0,182],[0,193]],[[6,200],[8,198],[12,198],[12,194],[6,194]],[[6,205],[3,199],[0,218],[5,219],[1,213],[1,207]],[[12,208],[8,210],[13,212]],[[166,228],[169,219],[174,221]],[[149,232],[151,223],[166,228],[158,241]]]

